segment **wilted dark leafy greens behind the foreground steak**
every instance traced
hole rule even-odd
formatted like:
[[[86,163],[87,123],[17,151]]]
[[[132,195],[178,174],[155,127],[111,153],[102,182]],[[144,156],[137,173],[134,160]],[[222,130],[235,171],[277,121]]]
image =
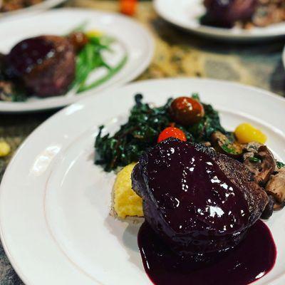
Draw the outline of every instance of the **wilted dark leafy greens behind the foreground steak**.
[[[193,98],[199,100],[197,94]],[[115,170],[118,166],[125,166],[138,161],[148,147],[157,143],[161,131],[173,124],[169,107],[172,98],[161,107],[151,107],[142,103],[142,95],[135,95],[135,105],[130,110],[128,123],[120,126],[115,135],[103,135],[104,126],[100,126],[95,140],[95,163],[104,165],[105,171]],[[205,115],[199,123],[190,127],[175,124],[186,135],[187,140],[206,142],[214,131],[226,133],[219,120],[219,114],[211,105],[202,104]]]

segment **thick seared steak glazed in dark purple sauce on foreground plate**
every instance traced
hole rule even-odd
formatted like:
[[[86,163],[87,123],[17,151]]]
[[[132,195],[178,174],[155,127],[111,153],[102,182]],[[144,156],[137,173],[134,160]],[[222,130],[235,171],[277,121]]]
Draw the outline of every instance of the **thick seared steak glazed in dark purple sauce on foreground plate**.
[[[132,182],[145,219],[180,255],[234,247],[268,202],[242,163],[173,138],[140,157]]]

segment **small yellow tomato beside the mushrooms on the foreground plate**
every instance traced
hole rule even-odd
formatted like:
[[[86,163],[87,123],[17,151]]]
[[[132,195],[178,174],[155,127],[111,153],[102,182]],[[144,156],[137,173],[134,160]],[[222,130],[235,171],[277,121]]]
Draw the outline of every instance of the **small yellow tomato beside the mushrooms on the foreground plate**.
[[[264,135],[261,130],[254,128],[254,126],[249,123],[238,125],[234,131],[234,135],[240,143],[260,142],[264,144],[267,140],[266,135]]]

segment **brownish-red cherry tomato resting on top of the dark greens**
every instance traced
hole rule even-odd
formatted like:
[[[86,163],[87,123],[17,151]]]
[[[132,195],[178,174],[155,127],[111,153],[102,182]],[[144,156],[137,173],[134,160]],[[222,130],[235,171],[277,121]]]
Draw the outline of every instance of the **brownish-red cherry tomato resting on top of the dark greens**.
[[[170,115],[181,125],[193,125],[204,117],[204,107],[190,97],[178,97],[170,105]]]

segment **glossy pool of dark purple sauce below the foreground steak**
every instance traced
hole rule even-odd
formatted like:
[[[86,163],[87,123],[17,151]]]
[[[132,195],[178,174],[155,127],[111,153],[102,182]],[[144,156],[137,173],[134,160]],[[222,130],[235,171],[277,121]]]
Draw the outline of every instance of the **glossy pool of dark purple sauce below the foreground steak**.
[[[179,257],[147,222],[140,227],[138,246],[145,271],[155,285],[246,285],[267,274],[276,260],[274,239],[261,220],[237,247],[222,254]]]

